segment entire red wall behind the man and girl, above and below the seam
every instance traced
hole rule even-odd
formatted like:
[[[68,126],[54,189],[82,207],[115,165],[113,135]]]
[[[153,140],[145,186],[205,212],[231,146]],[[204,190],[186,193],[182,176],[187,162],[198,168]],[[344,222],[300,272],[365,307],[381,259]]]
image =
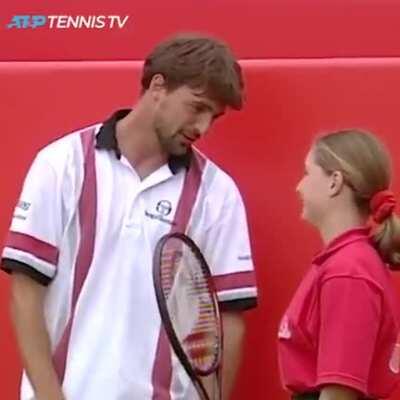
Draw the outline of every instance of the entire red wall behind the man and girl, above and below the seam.
[[[260,306],[248,314],[234,399],[287,399],[277,372],[277,325],[319,249],[316,233],[299,219],[294,188],[312,136],[343,127],[379,133],[400,172],[400,58],[388,57],[400,53],[395,25],[400,5],[397,0],[204,0],[201,7],[193,0],[157,2],[157,7],[154,0],[113,3],[24,0],[0,6],[0,244],[35,151],[134,103],[141,63],[115,60],[141,59],[164,34],[181,28],[219,34],[242,59],[252,59],[242,61],[246,108],[217,122],[201,144],[241,188],[260,286]],[[29,13],[131,14],[132,23],[108,32],[4,28],[12,15]],[[365,56],[382,57],[360,58]],[[114,61],[12,62],[49,59]],[[395,189],[399,193],[398,178]],[[0,398],[14,400],[20,362],[8,292],[8,279],[0,274]],[[392,400],[400,400],[400,391]]]

